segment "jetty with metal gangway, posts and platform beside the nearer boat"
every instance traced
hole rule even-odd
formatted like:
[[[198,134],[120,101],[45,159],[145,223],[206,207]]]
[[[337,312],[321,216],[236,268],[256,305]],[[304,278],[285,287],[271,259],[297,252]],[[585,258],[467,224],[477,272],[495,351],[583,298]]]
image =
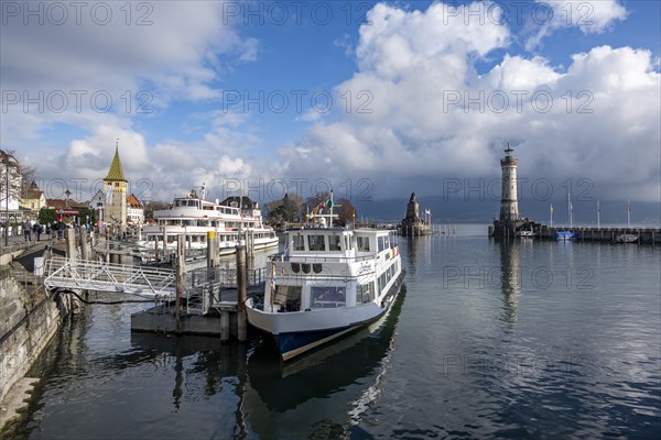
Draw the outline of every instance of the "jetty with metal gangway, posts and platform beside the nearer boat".
[[[241,306],[248,297],[263,294],[266,268],[248,268],[245,245],[237,246],[236,268],[219,267],[215,237],[208,240],[205,267],[189,267],[183,237],[178,241],[173,267],[52,257],[44,262],[44,284],[83,302],[89,301],[87,292],[118,295],[119,301],[153,302],[153,307],[131,315],[132,331],[245,341]]]

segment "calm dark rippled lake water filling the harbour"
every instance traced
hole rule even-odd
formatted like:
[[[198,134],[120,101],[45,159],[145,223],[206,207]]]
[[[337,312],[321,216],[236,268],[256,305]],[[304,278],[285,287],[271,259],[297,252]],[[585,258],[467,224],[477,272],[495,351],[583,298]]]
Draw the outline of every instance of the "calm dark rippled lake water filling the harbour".
[[[130,332],[93,306],[51,343],[15,439],[658,438],[661,249],[400,240],[380,326],[284,367],[270,341]]]

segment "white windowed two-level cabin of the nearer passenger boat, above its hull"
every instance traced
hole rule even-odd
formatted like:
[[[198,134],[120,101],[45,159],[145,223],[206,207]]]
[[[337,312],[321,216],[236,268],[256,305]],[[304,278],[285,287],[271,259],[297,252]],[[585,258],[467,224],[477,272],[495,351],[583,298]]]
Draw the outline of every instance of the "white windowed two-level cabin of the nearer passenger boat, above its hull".
[[[382,297],[401,271],[394,231],[302,229],[286,232],[271,257],[264,310],[356,307]]]

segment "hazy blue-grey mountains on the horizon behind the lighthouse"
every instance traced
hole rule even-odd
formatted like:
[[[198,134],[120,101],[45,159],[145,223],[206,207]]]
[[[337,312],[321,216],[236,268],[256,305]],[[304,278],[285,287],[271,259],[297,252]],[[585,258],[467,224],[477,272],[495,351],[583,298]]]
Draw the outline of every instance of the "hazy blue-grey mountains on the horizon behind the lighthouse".
[[[354,205],[360,220],[378,220],[383,222],[400,222],[407,213],[408,198],[390,200],[356,201]],[[500,200],[491,198],[464,199],[419,197],[420,213],[425,209],[432,211],[432,221],[442,223],[490,223],[498,217]],[[534,221],[549,224],[553,204],[553,223],[568,224],[567,201],[559,200],[519,200],[519,213]],[[627,224],[627,200],[600,200],[602,224]],[[573,200],[573,223],[582,226],[597,224],[597,201]],[[661,204],[631,201],[631,224],[661,227]]]

